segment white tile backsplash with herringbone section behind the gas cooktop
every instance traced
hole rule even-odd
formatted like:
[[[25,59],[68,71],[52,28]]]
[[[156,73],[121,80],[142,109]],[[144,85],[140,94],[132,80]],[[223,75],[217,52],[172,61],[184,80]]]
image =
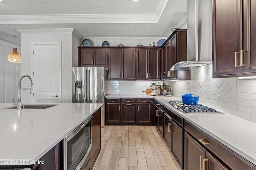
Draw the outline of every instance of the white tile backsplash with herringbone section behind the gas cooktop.
[[[256,122],[256,79],[212,78],[212,64],[191,70],[191,80],[165,81],[173,96],[191,92],[199,103]]]

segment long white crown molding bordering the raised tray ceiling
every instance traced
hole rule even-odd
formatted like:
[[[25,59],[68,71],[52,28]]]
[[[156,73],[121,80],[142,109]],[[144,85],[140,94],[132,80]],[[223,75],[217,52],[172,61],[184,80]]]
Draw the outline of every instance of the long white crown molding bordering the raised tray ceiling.
[[[0,15],[1,24],[157,23],[168,0],[160,0],[152,14]]]

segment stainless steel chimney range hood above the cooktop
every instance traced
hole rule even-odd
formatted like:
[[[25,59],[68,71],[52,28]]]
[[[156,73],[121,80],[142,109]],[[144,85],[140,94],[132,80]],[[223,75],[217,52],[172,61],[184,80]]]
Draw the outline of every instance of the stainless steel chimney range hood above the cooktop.
[[[190,67],[212,63],[212,2],[188,0],[188,60],[180,61],[170,70],[190,70]]]

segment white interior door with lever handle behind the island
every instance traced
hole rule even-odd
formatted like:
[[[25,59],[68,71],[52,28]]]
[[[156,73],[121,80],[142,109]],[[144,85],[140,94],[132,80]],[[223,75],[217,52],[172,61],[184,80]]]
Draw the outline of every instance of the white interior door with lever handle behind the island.
[[[60,44],[34,44],[34,103],[59,103]]]

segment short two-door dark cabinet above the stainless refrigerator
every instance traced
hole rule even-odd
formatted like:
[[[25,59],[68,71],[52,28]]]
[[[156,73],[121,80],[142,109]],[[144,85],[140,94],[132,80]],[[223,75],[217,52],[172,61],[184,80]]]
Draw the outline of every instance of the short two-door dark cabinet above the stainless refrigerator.
[[[107,48],[78,47],[78,66],[107,66]]]

